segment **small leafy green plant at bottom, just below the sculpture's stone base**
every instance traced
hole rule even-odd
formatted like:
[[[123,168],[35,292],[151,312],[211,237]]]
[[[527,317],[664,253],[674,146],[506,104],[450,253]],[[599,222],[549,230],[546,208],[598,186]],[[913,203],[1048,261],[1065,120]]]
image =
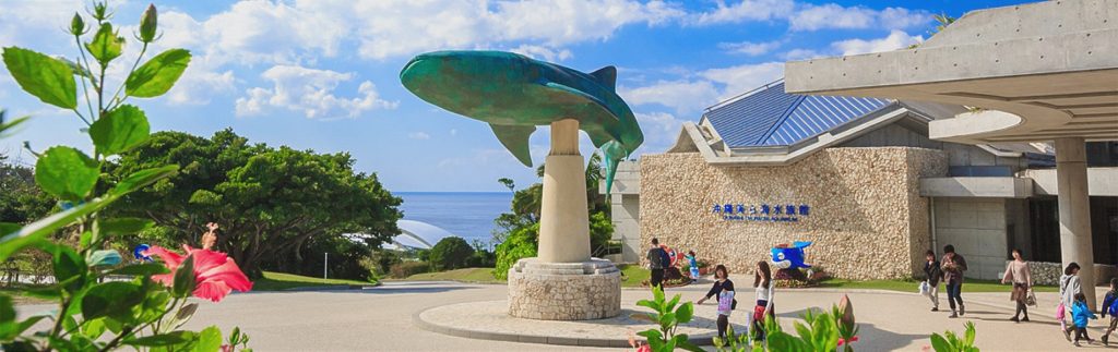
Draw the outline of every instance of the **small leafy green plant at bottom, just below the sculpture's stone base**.
[[[660,287],[652,288],[652,301],[641,299],[636,305],[652,308],[653,313],[636,316],[659,324],[660,329],[645,330],[638,332],[637,335],[648,339],[648,346],[652,351],[656,352],[674,351],[675,349],[702,351],[702,349],[688,340],[688,334],[675,333],[679,324],[691,322],[691,317],[694,314],[694,304],[691,302],[679,304],[680,295],[672,297],[672,301],[664,299],[664,291]]]

